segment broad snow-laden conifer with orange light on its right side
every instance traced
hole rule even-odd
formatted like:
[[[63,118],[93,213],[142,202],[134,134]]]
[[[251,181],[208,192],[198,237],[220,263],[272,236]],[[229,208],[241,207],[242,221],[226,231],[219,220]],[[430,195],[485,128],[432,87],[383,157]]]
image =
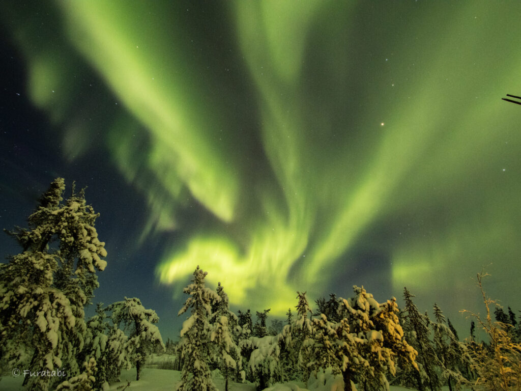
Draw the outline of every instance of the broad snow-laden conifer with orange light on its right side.
[[[339,322],[323,313],[313,319],[309,367],[315,374],[329,366],[341,373],[345,391],[356,381],[364,390],[389,389],[386,374],[395,374],[398,361],[417,368],[416,351],[403,338],[396,299],[380,304],[364,287],[353,288],[355,297],[339,299]]]

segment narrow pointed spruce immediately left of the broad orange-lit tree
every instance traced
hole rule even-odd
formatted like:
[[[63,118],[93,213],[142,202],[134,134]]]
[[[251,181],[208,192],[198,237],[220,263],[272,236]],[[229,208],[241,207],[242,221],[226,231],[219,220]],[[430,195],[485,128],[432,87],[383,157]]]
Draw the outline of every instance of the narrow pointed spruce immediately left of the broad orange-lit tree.
[[[312,311],[306,297],[306,292],[296,292],[299,303],[296,305],[296,319],[284,326],[282,338],[284,347],[288,350],[287,364],[292,369],[291,380],[300,378],[307,382],[309,378],[310,344],[307,342],[313,337]]]

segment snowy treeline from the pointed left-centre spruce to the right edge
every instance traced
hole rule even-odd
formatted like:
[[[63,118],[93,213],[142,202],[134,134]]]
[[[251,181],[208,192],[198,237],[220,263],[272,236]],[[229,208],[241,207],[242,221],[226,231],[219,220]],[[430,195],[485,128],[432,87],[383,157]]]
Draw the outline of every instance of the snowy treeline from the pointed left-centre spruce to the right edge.
[[[179,312],[190,309],[191,315],[178,343],[167,345],[180,358],[179,390],[215,389],[214,369],[225,377],[226,389],[229,380],[246,379],[262,390],[292,380],[308,382],[326,371],[342,375],[344,390],[351,390],[352,383],[361,391],[388,390],[390,384],[431,391],[443,386],[507,391],[521,385],[521,322],[510,309],[504,317],[501,307],[492,321],[490,308],[497,303],[482,289],[484,273],[477,282],[486,318],[470,313],[487,334],[479,342],[474,321],[471,337],[462,342],[436,303],[431,319],[419,312],[407,288],[402,310],[395,298],[378,303],[354,286],[353,297],[319,298],[313,312],[305,292],[297,292],[296,313],[290,308],[284,325],[276,320],[267,327],[269,309],[257,311],[255,323],[250,310],[235,315],[224,288],[220,283],[217,292],[205,287],[205,276],[197,266]]]

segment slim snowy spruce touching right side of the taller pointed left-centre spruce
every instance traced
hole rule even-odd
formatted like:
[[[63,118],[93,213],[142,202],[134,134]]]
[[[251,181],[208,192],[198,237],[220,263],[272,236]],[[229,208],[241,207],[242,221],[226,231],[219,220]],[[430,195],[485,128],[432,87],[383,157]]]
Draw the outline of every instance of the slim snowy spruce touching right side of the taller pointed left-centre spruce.
[[[244,371],[242,371],[241,349],[234,327],[238,323],[237,316],[230,311],[228,295],[218,283],[217,295],[220,300],[216,302],[214,313],[210,319],[212,323],[212,332],[210,333],[210,341],[214,343],[212,351],[212,361],[215,362],[217,368],[221,371],[225,378],[225,391],[228,391],[228,381],[235,378],[235,374],[242,372],[244,379]]]

